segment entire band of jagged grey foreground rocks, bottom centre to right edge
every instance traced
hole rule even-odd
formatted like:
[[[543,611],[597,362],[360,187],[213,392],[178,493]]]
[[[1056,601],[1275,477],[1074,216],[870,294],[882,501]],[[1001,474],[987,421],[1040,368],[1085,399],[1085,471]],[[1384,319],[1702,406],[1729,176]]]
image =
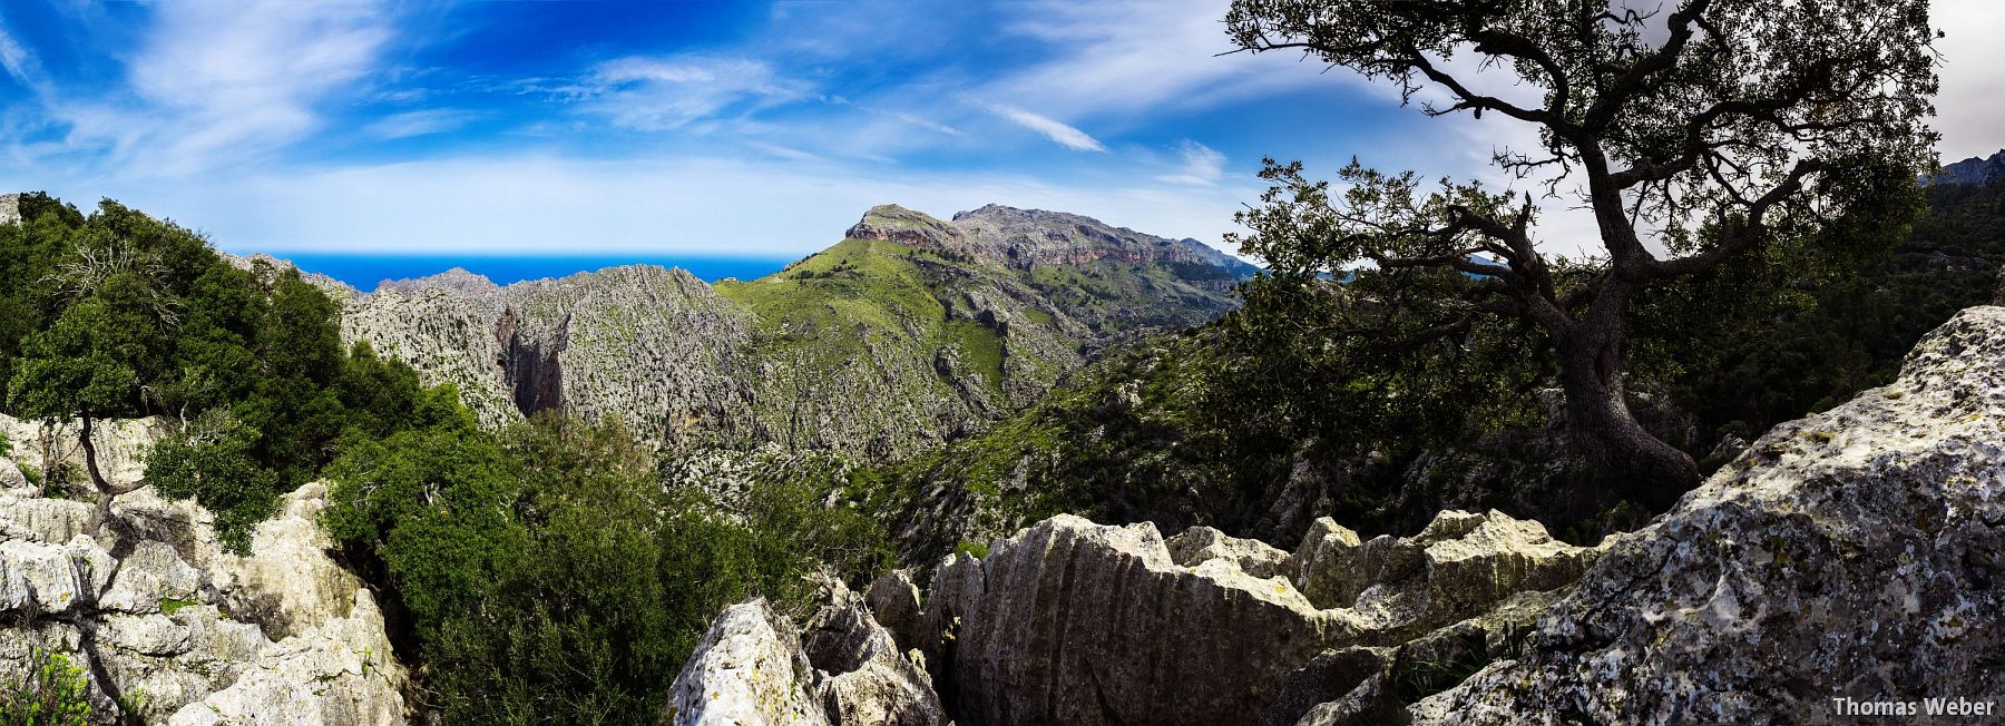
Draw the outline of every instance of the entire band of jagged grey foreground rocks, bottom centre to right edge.
[[[1768,431],[1598,548],[1496,511],[1369,541],[1321,519],[1293,554],[1059,515],[982,558],[948,556],[924,596],[908,574],[876,582],[850,628],[892,636],[926,676],[884,668],[852,692],[930,686],[940,710],[906,700],[910,724],[1770,724],[1843,722],[1847,702],[1985,708],[2005,692],[1999,391],[2005,309],[1963,311],[1895,383]],[[758,604],[734,608],[668,716],[860,722],[826,698],[854,670],[796,634]],[[756,658],[792,668],[716,666]]]

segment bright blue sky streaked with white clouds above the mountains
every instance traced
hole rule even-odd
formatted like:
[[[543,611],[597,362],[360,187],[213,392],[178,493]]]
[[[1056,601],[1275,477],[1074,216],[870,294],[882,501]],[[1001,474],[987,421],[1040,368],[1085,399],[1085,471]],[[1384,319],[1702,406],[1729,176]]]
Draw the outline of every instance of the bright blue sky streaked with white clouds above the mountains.
[[[1217,243],[1263,154],[1484,174],[1526,138],[1219,56],[1225,4],[10,0],[0,187],[229,251],[796,255],[878,203]],[[1945,154],[1995,150],[2005,24],[1939,14]]]

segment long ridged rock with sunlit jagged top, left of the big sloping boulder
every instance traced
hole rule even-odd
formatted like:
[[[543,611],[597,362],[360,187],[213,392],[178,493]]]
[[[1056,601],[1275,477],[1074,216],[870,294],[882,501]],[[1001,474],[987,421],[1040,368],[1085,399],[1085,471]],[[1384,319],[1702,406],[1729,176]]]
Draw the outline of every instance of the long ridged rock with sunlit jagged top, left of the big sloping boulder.
[[[1564,588],[1594,554],[1498,511],[1369,543],[1321,519],[1295,554],[1061,515],[942,562],[912,646],[960,724],[1293,722],[1355,686],[1307,674],[1279,688],[1317,658],[1391,668],[1399,646]],[[1367,652],[1339,656],[1353,648]]]

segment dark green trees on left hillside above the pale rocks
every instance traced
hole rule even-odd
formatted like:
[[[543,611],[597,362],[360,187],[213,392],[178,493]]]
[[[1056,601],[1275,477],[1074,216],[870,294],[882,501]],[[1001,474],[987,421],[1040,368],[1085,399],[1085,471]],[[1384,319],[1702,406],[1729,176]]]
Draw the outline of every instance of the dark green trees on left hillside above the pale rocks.
[[[421,425],[417,373],[341,349],[341,307],[297,271],[231,265],[209,243],[112,201],[84,217],[22,197],[0,225],[4,411],[32,419],[168,415],[148,477],[217,511],[243,550],[347,429]]]

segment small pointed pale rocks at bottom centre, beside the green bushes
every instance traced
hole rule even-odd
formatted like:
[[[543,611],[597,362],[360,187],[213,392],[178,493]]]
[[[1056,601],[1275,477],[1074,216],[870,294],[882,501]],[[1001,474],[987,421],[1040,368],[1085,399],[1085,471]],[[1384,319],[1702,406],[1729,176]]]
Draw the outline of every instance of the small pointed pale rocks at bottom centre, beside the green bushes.
[[[828,580],[804,630],[766,600],[726,608],[676,676],[666,720],[940,726],[946,714],[924,668],[898,652],[860,596]]]

